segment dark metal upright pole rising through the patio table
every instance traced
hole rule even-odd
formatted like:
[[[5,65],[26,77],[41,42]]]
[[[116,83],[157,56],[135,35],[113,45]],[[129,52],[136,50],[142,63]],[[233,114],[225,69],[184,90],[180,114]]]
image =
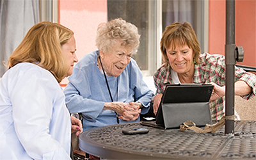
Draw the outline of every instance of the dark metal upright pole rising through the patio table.
[[[235,1],[226,0],[226,109],[225,115],[234,115],[234,66],[236,64],[235,44]],[[234,120],[226,120],[225,134],[234,133]]]

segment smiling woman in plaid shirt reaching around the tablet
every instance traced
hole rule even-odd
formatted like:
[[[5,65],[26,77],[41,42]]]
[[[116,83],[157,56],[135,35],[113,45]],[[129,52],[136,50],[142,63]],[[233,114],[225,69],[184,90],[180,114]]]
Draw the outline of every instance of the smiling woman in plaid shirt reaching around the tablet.
[[[200,54],[195,31],[188,22],[175,22],[166,27],[161,39],[164,63],[154,74],[157,88],[153,109],[156,114],[167,84],[211,83],[214,90],[210,99],[212,120],[220,120],[225,113],[225,57]],[[250,99],[256,94],[256,77],[243,69],[235,69],[235,95]],[[237,119],[239,116],[236,113]]]

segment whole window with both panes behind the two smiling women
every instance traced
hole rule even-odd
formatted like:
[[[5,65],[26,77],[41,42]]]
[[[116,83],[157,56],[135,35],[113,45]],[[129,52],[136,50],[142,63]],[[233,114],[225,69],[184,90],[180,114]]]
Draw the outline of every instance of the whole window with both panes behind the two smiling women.
[[[108,20],[122,17],[137,26],[141,44],[133,58],[143,76],[152,76],[161,65],[161,34],[173,22],[191,23],[202,51],[207,51],[207,4],[208,1],[192,0],[108,0]]]

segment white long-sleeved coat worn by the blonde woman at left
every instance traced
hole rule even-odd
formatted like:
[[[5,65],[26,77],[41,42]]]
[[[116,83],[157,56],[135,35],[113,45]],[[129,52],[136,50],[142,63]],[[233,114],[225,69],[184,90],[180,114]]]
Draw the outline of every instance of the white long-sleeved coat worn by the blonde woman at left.
[[[51,72],[19,63],[0,80],[0,159],[70,159],[70,115]]]

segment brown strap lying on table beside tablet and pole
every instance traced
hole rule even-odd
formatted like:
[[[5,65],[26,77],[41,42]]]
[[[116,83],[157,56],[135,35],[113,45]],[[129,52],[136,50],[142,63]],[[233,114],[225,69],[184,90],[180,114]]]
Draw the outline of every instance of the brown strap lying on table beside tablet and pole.
[[[195,131],[197,133],[216,132],[225,124],[225,120],[235,120],[235,116],[223,116],[221,120],[216,124],[206,124],[204,130],[199,127],[196,127],[196,124],[194,122],[187,121],[184,122],[183,125],[180,125],[180,131],[191,129],[192,131]]]

